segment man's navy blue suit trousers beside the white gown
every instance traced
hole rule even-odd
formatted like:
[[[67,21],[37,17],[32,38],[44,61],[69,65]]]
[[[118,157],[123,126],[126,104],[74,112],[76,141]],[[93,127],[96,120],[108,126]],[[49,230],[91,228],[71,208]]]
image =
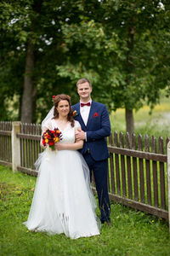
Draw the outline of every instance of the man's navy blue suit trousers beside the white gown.
[[[88,164],[90,176],[94,172],[94,181],[98,193],[99,209],[101,212],[101,223],[110,221],[111,205],[108,194],[107,173],[108,160],[95,161],[90,153],[83,154],[84,159]]]

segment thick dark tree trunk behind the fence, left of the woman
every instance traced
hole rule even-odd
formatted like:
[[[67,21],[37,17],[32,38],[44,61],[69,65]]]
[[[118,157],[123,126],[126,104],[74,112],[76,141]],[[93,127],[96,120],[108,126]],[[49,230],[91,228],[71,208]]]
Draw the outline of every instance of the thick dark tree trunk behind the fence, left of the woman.
[[[26,73],[24,78],[24,91],[21,104],[21,122],[31,123],[32,121],[32,103],[33,103],[33,70],[34,70],[34,53],[31,42],[27,46],[26,55]]]

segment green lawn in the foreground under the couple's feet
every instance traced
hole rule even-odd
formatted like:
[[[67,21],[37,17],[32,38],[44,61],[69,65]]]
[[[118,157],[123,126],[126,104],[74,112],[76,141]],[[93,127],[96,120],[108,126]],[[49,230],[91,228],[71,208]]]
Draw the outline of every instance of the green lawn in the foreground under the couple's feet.
[[[112,225],[102,225],[100,236],[71,240],[31,233],[22,222],[28,217],[35,183],[36,177],[0,166],[0,255],[169,255],[167,221],[120,204],[111,203]]]

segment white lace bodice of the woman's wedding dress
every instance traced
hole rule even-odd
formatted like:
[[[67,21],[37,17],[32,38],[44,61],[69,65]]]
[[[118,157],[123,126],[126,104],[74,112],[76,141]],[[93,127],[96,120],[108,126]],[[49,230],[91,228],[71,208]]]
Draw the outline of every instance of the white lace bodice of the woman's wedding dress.
[[[62,133],[62,140],[60,141],[61,143],[75,143],[75,131],[78,127],[81,127],[79,122],[75,120],[75,126],[71,127],[71,123],[69,122],[65,129],[62,130],[59,128],[59,125],[57,125],[57,121],[54,119],[50,119],[47,121],[45,124],[45,129],[50,129],[54,130],[54,128],[58,128],[59,131]]]

